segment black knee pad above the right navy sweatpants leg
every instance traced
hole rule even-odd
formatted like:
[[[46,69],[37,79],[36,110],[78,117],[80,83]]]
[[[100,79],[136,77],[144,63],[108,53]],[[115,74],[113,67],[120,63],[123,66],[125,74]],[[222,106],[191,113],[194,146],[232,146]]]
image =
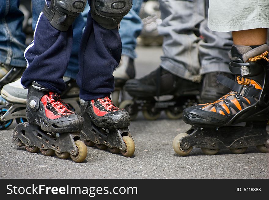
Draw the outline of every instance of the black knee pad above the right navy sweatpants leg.
[[[90,13],[97,23],[111,30],[118,27],[132,5],[133,0],[91,0]]]

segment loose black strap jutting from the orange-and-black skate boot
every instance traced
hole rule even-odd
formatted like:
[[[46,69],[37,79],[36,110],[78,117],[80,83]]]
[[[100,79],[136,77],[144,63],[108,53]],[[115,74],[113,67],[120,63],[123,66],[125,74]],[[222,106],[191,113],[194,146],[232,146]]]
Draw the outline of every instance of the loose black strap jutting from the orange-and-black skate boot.
[[[242,86],[237,82],[235,82],[234,80],[229,79],[227,76],[224,76],[222,74],[218,75],[217,81],[245,97],[253,97],[253,96],[256,96],[258,98],[260,97],[261,93],[260,89]]]

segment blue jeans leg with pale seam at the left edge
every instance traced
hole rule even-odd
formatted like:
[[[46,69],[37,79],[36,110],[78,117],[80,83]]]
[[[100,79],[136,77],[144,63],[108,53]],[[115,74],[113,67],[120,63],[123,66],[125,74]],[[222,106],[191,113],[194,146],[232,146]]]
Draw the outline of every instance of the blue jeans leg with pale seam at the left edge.
[[[23,13],[19,0],[0,1],[0,62],[25,67],[25,35],[22,32]]]

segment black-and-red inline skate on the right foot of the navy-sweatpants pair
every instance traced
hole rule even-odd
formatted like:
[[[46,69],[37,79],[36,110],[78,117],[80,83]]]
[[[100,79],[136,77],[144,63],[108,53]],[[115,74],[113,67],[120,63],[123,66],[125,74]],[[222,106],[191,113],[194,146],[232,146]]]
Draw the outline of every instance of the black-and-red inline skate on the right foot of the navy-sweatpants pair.
[[[135,143],[128,129],[130,117],[126,111],[117,108],[108,96],[90,101],[80,99],[80,107],[84,118],[81,138],[87,146],[108,148],[126,157],[134,154]]]

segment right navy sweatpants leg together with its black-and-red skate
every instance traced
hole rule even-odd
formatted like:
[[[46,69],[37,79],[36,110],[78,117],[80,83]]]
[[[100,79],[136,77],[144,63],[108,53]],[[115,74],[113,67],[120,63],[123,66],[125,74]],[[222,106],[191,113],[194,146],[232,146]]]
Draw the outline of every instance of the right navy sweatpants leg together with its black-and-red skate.
[[[90,6],[92,10],[93,5]],[[80,87],[81,116],[87,121],[82,134],[87,144],[94,142],[101,149],[109,146],[124,153],[128,152],[124,137],[131,139],[127,128],[130,117],[126,111],[117,108],[109,97],[114,90],[112,73],[120,62],[121,39],[117,26],[111,29],[114,23],[103,27],[102,22],[102,18],[93,19],[90,11],[80,43],[77,83]],[[134,153],[131,141],[133,150],[126,154],[128,157]]]

